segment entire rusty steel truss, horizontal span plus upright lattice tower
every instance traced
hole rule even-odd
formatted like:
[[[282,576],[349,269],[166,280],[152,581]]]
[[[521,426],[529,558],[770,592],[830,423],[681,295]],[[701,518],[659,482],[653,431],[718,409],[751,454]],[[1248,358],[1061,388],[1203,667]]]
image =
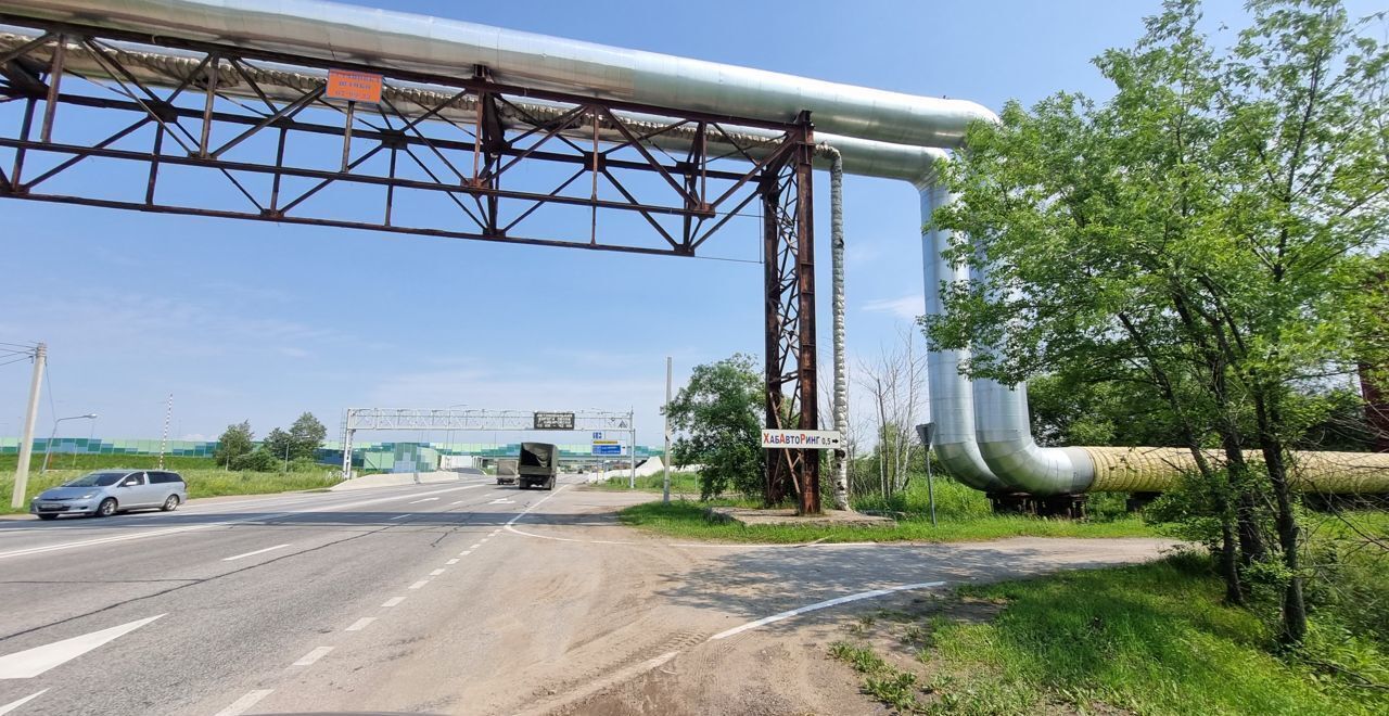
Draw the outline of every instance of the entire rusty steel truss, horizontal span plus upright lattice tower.
[[[807,112],[765,122],[504,85],[481,65],[447,76],[0,24],[0,103],[18,103],[0,129],[6,198],[681,257],[760,208],[767,426],[818,427]],[[329,71],[381,76],[379,101],[332,99]],[[122,179],[65,180],[89,167]],[[818,512],[818,468],[814,451],[768,451],[768,500],[795,491]]]

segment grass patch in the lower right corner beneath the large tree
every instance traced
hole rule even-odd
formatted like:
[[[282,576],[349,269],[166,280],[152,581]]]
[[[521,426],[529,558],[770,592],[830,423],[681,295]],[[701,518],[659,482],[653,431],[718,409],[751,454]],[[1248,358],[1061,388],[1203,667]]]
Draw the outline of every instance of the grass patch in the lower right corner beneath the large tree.
[[[1383,691],[1274,656],[1268,624],[1221,605],[1221,583],[1204,558],[960,594],[1007,606],[986,623],[933,620],[932,647],[921,658],[954,681],[939,710],[1035,713],[1065,704],[1154,715],[1389,713]],[[1365,658],[1389,666],[1389,654]]]

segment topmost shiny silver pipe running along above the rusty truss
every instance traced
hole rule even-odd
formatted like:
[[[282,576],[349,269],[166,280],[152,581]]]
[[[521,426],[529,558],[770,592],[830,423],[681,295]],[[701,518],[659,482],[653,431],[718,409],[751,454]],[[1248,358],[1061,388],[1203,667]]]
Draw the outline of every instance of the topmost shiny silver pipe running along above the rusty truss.
[[[993,112],[818,79],[472,22],[313,0],[7,0],[26,17],[435,74],[486,65],[503,83],[785,122],[810,111],[829,133],[954,147]]]

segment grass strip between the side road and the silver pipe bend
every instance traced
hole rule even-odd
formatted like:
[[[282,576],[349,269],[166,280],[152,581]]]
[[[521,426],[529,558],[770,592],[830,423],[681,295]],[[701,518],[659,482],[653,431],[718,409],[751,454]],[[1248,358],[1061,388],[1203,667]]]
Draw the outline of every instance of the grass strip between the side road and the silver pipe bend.
[[[828,543],[886,541],[970,541],[1001,537],[1151,537],[1156,531],[1136,516],[1113,520],[1061,520],[1024,516],[986,515],[965,519],[940,519],[932,527],[921,518],[899,520],[895,527],[799,527],[743,526],[711,522],[710,505],[732,501],[693,502],[672,500],[669,505],[644,502],[618,513],[624,525],[685,540],[724,540],[736,543],[796,544],[822,540]],[[743,502],[743,506],[747,506]]]

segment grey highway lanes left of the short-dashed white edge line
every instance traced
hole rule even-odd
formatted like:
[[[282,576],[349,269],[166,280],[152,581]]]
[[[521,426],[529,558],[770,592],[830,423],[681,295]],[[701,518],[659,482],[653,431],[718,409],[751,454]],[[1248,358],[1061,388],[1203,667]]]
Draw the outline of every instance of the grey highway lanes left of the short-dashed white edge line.
[[[24,713],[188,712],[225,680],[282,669],[269,655],[351,626],[339,615],[379,606],[393,584],[418,581],[435,558],[496,529],[517,502],[490,504],[493,487],[296,495],[160,515],[178,515],[168,520],[128,515],[83,530],[8,533],[0,708],[47,688]],[[161,531],[185,527],[196,529]],[[118,541],[97,541],[107,538]],[[6,655],[150,617],[43,674],[4,672]]]

